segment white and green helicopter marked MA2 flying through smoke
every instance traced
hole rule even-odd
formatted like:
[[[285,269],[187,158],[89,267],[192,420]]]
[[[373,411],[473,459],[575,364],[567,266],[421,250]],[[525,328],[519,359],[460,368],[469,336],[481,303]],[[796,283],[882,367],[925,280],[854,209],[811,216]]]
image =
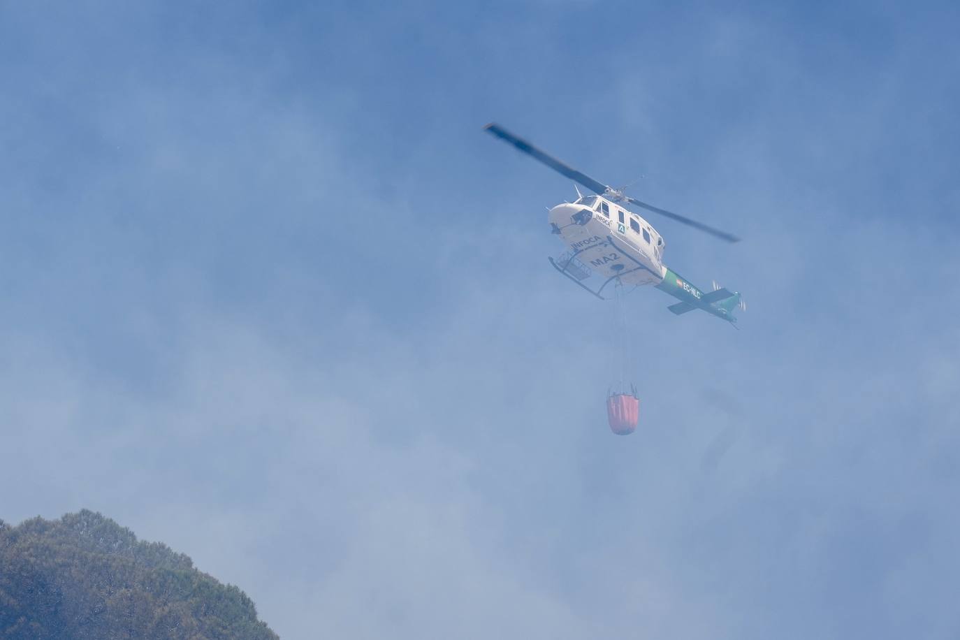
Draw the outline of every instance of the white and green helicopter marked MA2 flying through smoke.
[[[622,189],[614,189],[590,178],[499,125],[491,123],[484,130],[595,194],[584,195],[574,184],[577,200],[549,209],[548,222],[552,233],[559,235],[568,249],[558,258],[548,260],[554,269],[575,284],[600,299],[607,299],[603,296],[604,289],[614,281],[618,285],[652,285],[680,300],[667,307],[677,316],[699,309],[734,324],[733,310],[746,311],[747,305],[738,292],[731,292],[716,282],[712,291],[705,292],[668,269],[663,264],[663,249],[666,249],[663,237],[626,205],[634,204],[730,243],[739,242],[739,238],[626,196]],[[584,284],[594,272],[604,278],[603,284],[595,290]]]

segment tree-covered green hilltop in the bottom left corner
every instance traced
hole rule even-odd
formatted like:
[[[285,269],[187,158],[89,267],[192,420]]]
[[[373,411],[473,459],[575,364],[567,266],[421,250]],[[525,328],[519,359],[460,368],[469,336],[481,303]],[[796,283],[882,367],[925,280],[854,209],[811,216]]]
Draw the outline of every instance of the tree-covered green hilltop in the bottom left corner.
[[[250,598],[100,513],[0,520],[0,638],[276,640]]]

